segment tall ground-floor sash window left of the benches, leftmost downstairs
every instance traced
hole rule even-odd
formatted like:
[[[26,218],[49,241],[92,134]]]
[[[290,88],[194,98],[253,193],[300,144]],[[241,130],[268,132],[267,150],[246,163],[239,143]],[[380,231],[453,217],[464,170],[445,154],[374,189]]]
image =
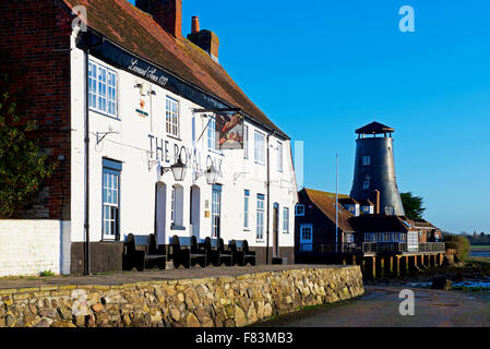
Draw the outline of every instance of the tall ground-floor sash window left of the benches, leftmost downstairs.
[[[119,240],[122,164],[103,159],[103,239]]]

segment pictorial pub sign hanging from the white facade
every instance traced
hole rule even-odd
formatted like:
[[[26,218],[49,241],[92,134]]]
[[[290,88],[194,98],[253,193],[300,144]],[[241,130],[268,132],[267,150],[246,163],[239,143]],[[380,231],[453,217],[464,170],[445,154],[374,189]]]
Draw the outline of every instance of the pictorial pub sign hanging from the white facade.
[[[243,149],[243,116],[216,113],[216,148]]]

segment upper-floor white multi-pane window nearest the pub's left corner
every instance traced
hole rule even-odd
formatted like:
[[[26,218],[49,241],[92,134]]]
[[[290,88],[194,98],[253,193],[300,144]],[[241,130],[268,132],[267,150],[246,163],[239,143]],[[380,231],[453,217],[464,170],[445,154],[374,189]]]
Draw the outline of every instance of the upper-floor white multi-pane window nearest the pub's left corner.
[[[106,116],[118,117],[118,80],[113,70],[88,62],[88,107]]]

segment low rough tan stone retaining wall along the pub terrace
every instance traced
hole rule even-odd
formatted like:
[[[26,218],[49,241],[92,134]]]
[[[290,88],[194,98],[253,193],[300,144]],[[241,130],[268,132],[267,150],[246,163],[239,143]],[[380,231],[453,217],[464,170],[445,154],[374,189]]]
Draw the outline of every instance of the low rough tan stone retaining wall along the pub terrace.
[[[230,327],[361,296],[359,266],[0,290],[0,326]]]

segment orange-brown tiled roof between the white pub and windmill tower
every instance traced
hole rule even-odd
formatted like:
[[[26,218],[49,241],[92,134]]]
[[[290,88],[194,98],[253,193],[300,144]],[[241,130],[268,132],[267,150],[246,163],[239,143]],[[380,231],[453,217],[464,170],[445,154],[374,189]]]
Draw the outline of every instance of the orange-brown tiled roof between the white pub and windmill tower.
[[[335,194],[307,188],[303,191],[310,201],[335,224]],[[338,197],[348,198],[349,196],[339,194]],[[352,214],[340,205],[338,205],[338,227],[343,231],[354,232],[352,227],[349,225],[349,218],[352,217]]]

